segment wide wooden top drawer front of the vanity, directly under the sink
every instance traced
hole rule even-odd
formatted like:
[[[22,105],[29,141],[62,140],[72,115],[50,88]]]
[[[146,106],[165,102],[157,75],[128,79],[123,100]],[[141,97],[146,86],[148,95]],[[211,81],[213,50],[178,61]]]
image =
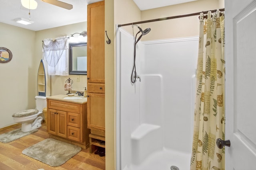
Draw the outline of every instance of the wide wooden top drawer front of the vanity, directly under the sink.
[[[51,109],[70,111],[72,113],[80,113],[80,104],[71,102],[62,102],[58,100],[47,100],[48,107]]]

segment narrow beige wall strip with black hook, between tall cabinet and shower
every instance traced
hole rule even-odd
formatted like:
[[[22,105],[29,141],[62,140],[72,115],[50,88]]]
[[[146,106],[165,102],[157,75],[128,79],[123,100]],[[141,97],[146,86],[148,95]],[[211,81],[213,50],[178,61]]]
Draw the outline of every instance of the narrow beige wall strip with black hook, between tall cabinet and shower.
[[[105,135],[106,135],[106,170],[115,168],[115,124],[114,124],[114,0],[105,1],[105,30],[111,40],[105,43]],[[105,42],[107,38],[105,37]]]

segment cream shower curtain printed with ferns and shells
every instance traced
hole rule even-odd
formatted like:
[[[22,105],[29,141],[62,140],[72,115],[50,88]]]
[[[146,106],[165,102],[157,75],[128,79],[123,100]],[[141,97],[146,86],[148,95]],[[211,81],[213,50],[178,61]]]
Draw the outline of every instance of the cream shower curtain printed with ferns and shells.
[[[224,170],[225,149],[216,146],[225,137],[224,15],[201,13],[199,34],[190,170]]]

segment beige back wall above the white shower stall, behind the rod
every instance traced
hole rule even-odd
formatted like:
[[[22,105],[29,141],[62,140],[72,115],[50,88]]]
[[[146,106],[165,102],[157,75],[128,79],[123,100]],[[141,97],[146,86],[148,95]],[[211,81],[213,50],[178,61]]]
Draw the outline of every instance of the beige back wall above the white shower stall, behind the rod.
[[[141,12],[141,19],[152,20],[170,16],[191,14],[207,10],[224,8],[224,0],[196,0],[193,2],[166,6]],[[154,39],[169,39],[178,37],[193,37],[199,35],[198,16],[156,21],[141,24],[143,29],[150,27],[151,31],[143,36],[143,41]]]

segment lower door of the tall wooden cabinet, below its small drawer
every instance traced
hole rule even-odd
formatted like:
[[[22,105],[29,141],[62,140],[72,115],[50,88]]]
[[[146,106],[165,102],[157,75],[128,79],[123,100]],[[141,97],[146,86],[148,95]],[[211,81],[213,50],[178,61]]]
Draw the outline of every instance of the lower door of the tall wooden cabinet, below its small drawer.
[[[88,96],[88,128],[105,131],[105,95],[88,93]]]

